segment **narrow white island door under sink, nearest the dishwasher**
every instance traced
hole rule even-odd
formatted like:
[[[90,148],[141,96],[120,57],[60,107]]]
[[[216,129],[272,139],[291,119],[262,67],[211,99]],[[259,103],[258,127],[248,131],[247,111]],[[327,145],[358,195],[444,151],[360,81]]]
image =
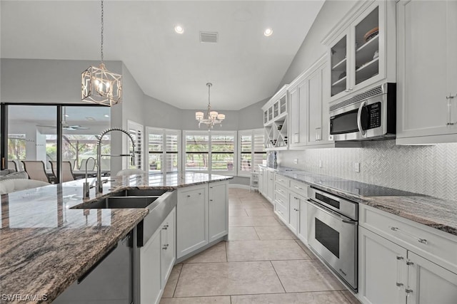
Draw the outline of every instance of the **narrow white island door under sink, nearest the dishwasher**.
[[[161,232],[156,233],[140,249],[141,303],[159,303],[161,295]]]

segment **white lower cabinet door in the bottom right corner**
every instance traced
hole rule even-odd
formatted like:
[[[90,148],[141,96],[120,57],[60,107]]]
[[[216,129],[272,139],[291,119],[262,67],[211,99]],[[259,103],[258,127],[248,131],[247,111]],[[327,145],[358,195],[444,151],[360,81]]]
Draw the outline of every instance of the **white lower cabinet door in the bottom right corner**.
[[[454,304],[457,274],[408,251],[408,304]]]

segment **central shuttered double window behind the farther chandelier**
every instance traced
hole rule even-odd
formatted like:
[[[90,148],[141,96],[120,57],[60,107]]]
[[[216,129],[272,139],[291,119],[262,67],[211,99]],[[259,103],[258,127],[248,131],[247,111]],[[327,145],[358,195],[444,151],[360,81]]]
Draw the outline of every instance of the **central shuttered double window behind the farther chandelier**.
[[[236,132],[186,131],[186,171],[236,174]]]

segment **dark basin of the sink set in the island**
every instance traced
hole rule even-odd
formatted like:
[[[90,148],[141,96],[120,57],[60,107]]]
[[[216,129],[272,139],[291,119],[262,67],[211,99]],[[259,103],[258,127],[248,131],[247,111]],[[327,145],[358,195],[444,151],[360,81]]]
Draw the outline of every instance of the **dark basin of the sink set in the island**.
[[[127,209],[146,208],[160,196],[108,196],[98,201],[79,204],[74,209]]]

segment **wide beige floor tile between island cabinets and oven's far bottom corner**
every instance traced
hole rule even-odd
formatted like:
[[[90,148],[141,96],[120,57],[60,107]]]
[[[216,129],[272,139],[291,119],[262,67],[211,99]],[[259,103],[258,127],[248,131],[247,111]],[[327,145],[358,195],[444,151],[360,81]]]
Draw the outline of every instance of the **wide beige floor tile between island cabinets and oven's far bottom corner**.
[[[308,259],[305,251],[293,240],[230,241],[227,261],[272,261]]]

